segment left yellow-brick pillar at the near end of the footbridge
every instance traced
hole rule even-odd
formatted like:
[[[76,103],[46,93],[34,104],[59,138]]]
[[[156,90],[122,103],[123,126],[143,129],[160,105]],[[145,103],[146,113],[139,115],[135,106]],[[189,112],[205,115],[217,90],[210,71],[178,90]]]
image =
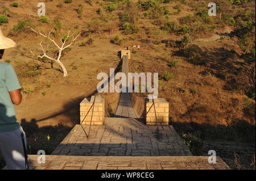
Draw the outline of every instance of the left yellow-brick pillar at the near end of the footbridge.
[[[101,98],[100,95],[96,95],[92,96],[91,98],[84,98],[84,100],[82,100],[80,103],[80,124],[90,125],[92,119],[92,125],[103,125],[104,117],[104,98]]]

